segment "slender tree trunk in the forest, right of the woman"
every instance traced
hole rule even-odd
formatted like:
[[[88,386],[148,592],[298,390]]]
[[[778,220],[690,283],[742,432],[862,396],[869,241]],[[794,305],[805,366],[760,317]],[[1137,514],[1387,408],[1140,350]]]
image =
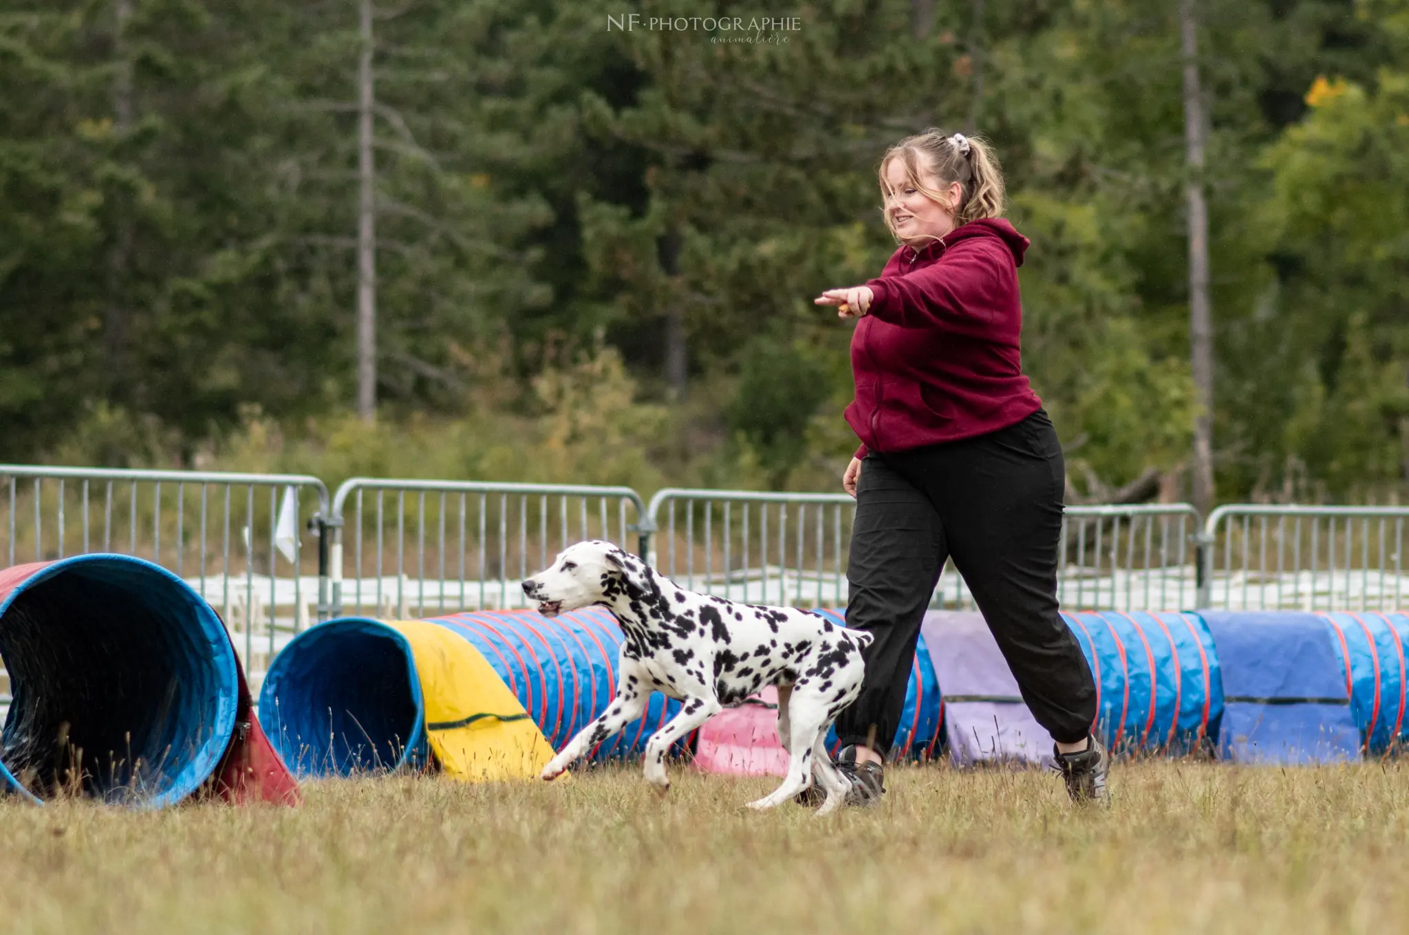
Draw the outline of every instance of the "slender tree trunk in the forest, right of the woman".
[[[1209,206],[1203,193],[1203,100],[1199,90],[1195,0],[1184,0],[1184,142],[1188,159],[1185,200],[1189,211],[1189,352],[1193,366],[1193,506],[1213,508],[1213,327],[1209,307]]]

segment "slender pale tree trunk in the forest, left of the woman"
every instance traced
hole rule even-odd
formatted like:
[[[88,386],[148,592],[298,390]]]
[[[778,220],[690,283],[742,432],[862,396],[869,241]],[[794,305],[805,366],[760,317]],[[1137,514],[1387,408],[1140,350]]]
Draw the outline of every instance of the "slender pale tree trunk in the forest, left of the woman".
[[[376,415],[376,163],[372,158],[372,0],[362,0],[358,59],[356,414]]]

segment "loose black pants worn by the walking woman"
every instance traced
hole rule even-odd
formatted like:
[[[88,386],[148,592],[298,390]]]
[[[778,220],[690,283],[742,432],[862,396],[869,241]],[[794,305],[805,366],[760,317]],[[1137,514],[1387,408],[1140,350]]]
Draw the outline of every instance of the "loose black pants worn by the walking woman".
[[[882,755],[890,746],[920,622],[950,556],[1037,722],[1061,743],[1086,736],[1096,687],[1057,610],[1064,487],[1061,444],[1041,410],[988,435],[862,462],[847,624],[875,641],[861,696],[837,718],[843,743],[874,736]]]

